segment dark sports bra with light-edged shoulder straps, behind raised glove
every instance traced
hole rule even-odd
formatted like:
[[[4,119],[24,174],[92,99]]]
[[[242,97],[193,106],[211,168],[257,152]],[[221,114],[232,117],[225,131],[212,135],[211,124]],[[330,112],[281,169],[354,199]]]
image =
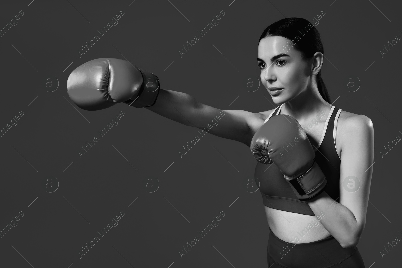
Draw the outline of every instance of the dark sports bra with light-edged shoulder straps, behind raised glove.
[[[281,106],[275,110],[264,121],[267,122],[272,115],[279,115]],[[336,124],[342,109],[335,108],[332,105],[330,113],[324,125],[324,131],[321,140],[314,148],[317,164],[327,180],[324,191],[334,200],[339,198],[339,176],[340,176],[340,158],[336,152],[335,137]],[[334,112],[336,111],[336,113]],[[263,164],[257,162],[254,170],[254,180],[262,196],[263,204],[272,209],[288,211],[298,214],[315,216],[306,201],[300,201],[293,192],[289,182],[283,177],[282,172],[275,164]]]

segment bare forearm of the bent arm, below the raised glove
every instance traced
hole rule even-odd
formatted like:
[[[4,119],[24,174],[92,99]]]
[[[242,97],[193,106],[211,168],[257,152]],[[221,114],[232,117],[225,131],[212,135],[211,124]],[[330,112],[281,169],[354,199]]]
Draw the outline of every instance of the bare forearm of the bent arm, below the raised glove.
[[[315,215],[324,211],[321,223],[343,248],[349,248],[358,242],[359,227],[353,213],[344,205],[334,202],[325,191],[317,197],[307,200]]]

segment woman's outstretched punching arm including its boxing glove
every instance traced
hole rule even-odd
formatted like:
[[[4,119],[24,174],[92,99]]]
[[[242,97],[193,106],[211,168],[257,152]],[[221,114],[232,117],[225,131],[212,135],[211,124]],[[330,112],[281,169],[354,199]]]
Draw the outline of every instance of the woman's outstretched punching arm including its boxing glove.
[[[220,110],[198,102],[189,94],[160,89],[159,79],[153,73],[115,58],[93,59],[78,66],[68,77],[67,92],[85,110],[100,110],[124,102],[148,108],[184,125],[207,128],[213,135],[247,146],[262,116],[244,110]]]

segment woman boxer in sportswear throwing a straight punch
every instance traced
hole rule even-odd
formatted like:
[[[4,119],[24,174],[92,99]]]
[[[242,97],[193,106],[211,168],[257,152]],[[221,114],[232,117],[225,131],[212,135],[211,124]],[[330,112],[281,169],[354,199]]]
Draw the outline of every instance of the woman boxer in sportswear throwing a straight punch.
[[[260,79],[278,106],[260,113],[224,110],[222,124],[209,130],[213,135],[250,146],[254,134],[267,121],[280,117],[276,115],[287,115],[297,120],[310,141],[310,149],[314,149],[314,161],[324,173],[326,184],[319,194],[308,200],[298,199],[277,163],[258,162],[255,168],[255,180],[263,195],[270,229],[267,260],[272,268],[364,267],[356,245],[365,226],[373,170],[373,123],[364,115],[349,113],[331,104],[320,75],[323,53],[320,34],[308,20],[285,18],[271,24],[258,41],[257,60]],[[70,98],[88,110],[123,101],[130,105],[138,103],[133,106],[146,107],[200,129],[220,114],[217,108],[171,90],[142,93],[148,94],[143,97],[144,102],[133,101],[141,98],[137,93],[127,98],[132,93],[121,94],[116,90],[118,86],[132,85],[139,80],[143,83],[142,77],[148,77],[144,79],[151,81],[147,85],[159,88],[159,81],[152,73],[120,61],[113,59],[112,64],[112,60],[97,59],[74,70],[67,82]],[[92,79],[91,75],[98,70],[102,75]],[[122,77],[127,74],[130,78],[125,81]],[[109,79],[109,76],[115,78]],[[99,78],[102,80],[94,82]],[[112,83],[115,84],[112,86]],[[138,88],[141,83],[134,84]],[[124,100],[116,100],[117,95]]]

